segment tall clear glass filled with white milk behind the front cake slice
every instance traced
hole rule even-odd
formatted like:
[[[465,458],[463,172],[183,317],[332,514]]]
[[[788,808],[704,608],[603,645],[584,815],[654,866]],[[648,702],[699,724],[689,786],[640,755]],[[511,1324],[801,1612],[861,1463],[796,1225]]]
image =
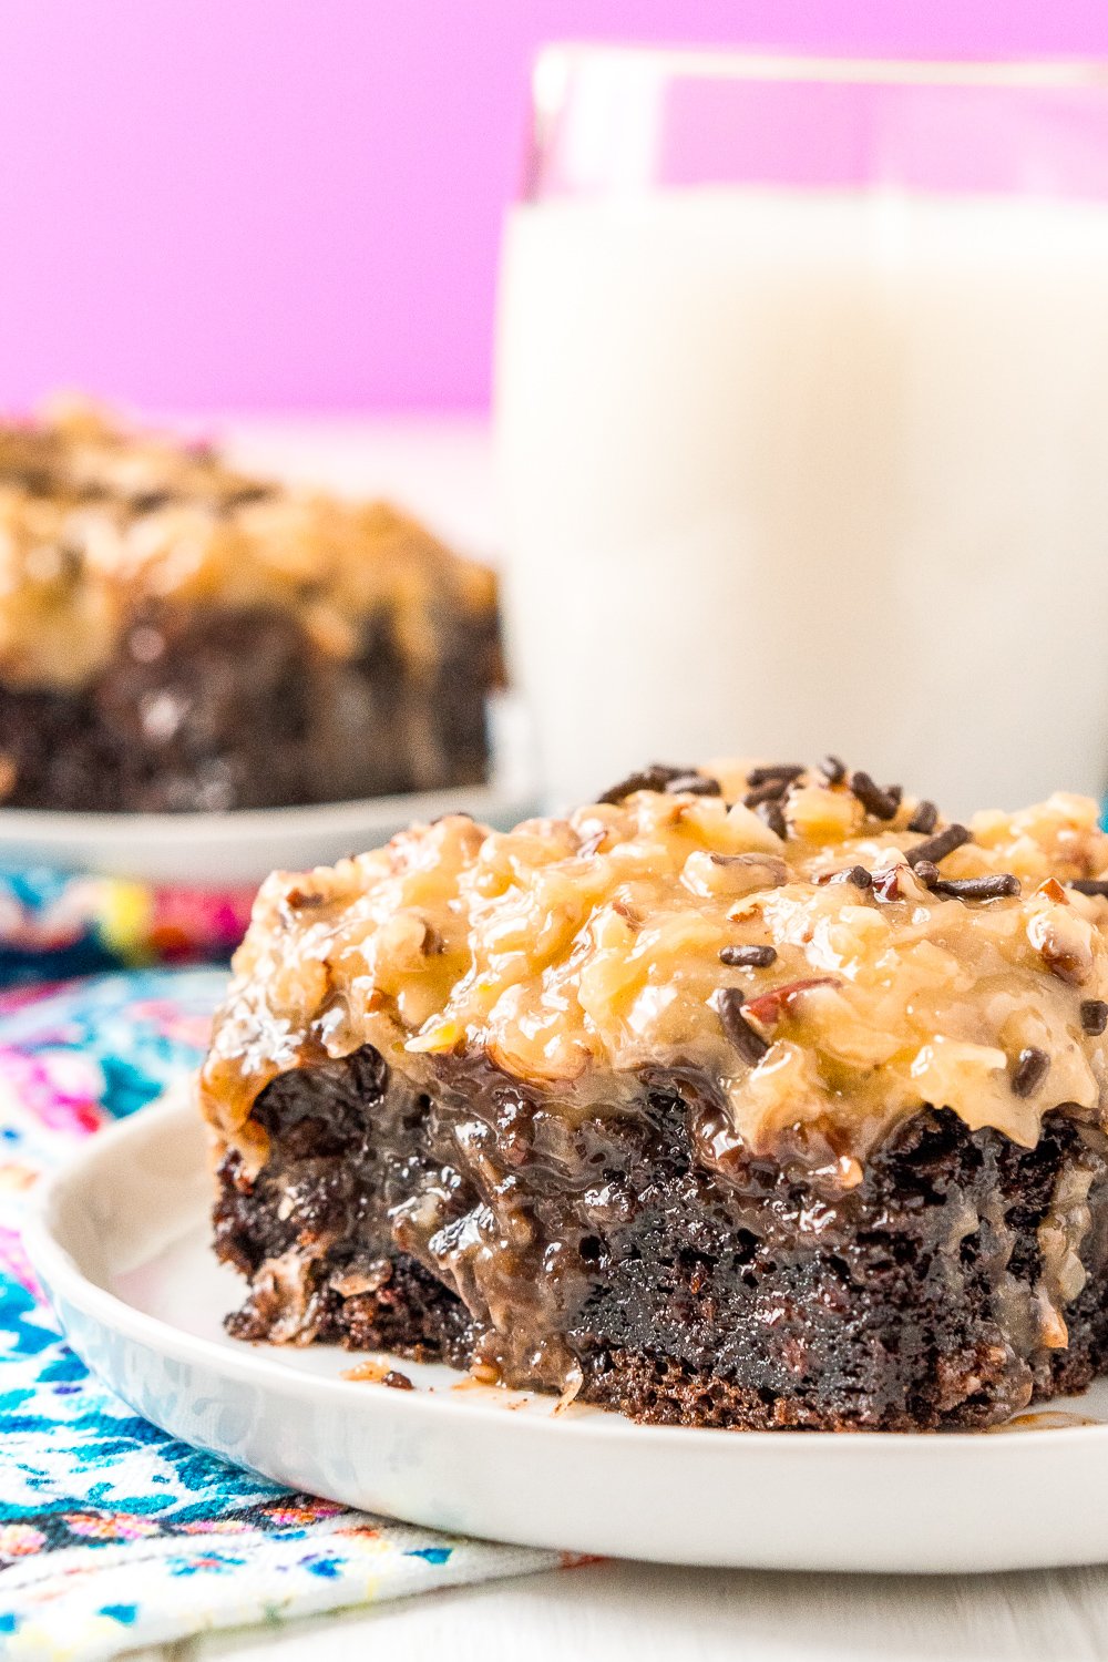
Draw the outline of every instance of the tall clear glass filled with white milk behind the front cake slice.
[[[837,751],[1108,778],[1108,78],[555,47],[498,307],[552,806]]]

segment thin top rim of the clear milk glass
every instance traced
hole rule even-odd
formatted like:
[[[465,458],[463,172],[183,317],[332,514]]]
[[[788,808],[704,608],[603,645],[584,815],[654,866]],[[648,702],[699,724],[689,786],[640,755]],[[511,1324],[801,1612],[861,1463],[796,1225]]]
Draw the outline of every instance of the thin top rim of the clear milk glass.
[[[857,86],[1108,88],[1106,58],[907,58],[794,53],[772,48],[651,47],[548,42],[532,68],[532,95],[547,105],[583,63],[635,65],[674,80],[824,81]]]

